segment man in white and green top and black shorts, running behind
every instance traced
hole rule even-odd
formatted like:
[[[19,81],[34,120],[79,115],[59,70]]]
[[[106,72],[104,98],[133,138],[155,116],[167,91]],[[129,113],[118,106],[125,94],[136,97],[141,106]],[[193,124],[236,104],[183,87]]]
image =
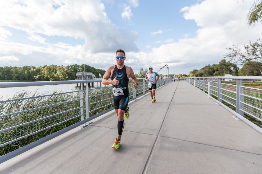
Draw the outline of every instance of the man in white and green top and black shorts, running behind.
[[[149,67],[148,71],[145,75],[145,81],[148,81],[148,88],[150,92],[150,96],[152,98],[151,103],[156,102],[155,95],[156,95],[156,83],[159,79],[159,75],[156,72],[153,72],[153,68]],[[156,79],[157,76],[157,79]]]

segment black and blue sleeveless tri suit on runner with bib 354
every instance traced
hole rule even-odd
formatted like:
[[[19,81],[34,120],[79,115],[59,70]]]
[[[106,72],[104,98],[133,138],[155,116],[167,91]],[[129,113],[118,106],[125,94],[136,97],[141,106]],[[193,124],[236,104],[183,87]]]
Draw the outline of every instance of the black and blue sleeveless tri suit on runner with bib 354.
[[[122,69],[118,69],[117,65],[115,65],[111,80],[113,80],[116,76],[119,83],[118,85],[113,85],[114,107],[115,109],[126,110],[129,102],[129,78],[127,78],[125,65]]]

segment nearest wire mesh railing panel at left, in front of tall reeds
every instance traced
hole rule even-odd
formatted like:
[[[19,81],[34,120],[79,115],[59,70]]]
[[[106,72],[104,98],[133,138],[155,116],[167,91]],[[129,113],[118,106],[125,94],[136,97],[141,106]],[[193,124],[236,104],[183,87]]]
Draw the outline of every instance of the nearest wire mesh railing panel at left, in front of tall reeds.
[[[73,92],[13,99],[0,103],[0,113],[1,146],[80,117],[80,95]]]

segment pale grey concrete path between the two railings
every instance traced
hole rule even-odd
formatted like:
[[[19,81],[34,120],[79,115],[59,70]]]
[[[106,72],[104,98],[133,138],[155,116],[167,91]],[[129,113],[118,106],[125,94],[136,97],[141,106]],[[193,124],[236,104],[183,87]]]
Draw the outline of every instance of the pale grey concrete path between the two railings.
[[[0,173],[262,173],[262,134],[186,81],[129,106],[118,151],[110,111],[0,164]]]

